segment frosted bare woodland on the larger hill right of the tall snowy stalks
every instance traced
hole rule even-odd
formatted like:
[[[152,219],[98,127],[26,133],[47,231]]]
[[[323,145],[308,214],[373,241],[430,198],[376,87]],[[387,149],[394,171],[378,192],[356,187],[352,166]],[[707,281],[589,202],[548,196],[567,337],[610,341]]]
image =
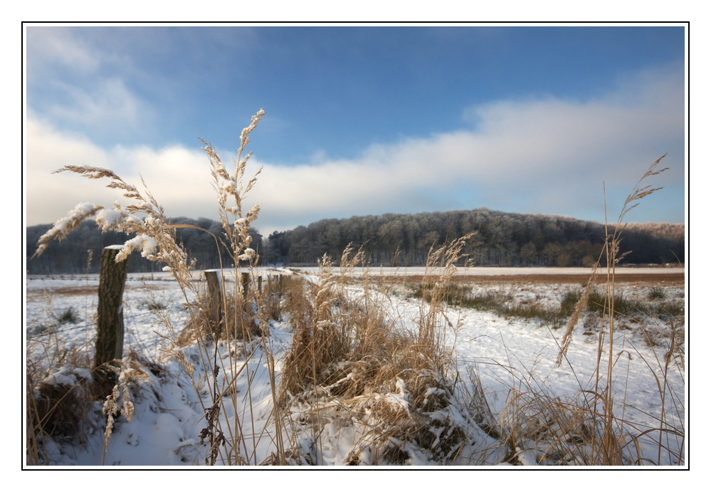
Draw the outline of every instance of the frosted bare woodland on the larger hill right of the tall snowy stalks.
[[[421,214],[324,219],[274,232],[268,263],[314,264],[340,258],[349,244],[375,266],[421,266],[431,248],[475,231],[465,248],[483,266],[591,266],[604,246],[605,226],[564,216],[512,214],[486,208]],[[683,224],[629,224],[622,234],[626,263],[684,263]]]

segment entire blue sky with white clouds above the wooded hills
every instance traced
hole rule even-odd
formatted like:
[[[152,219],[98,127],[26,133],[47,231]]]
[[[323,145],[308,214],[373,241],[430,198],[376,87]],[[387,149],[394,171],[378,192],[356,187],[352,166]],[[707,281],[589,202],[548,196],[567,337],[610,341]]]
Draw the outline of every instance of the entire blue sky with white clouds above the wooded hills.
[[[89,201],[112,169],[167,216],[218,218],[199,138],[230,164],[263,235],[355,215],[489,209],[685,221],[682,25],[26,24],[26,225]]]

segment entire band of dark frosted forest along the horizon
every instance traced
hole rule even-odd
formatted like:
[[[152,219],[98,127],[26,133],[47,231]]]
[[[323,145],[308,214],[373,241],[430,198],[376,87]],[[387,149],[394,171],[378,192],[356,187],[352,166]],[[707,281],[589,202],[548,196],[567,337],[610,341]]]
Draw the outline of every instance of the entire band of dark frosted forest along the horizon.
[[[221,224],[211,219],[172,219],[221,234]],[[27,269],[30,274],[98,272],[101,248],[122,244],[128,236],[101,234],[85,222],[42,256],[31,258],[39,237],[51,224],[26,230]],[[264,239],[251,231],[253,248],[262,264],[313,265],[327,254],[338,260],[351,245],[362,248],[373,266],[422,266],[432,247],[476,232],[465,248],[468,260],[480,266],[591,266],[604,244],[605,226],[593,221],[542,214],[512,214],[486,208],[420,214],[353,216],[324,219],[290,231],[275,231]],[[197,229],[177,229],[196,268],[219,268],[216,243]],[[628,224],[622,234],[624,263],[663,264],[685,262],[683,224]],[[88,251],[93,251],[88,263]],[[227,252],[222,252],[228,258]],[[158,271],[155,265],[132,255],[130,271]]]

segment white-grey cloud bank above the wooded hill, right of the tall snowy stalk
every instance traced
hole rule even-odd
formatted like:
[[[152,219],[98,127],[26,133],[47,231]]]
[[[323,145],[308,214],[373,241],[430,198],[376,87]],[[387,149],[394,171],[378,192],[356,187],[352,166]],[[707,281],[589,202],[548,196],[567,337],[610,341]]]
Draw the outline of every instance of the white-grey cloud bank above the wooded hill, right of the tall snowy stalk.
[[[275,224],[295,211],[317,219],[419,211],[417,202],[430,210],[485,205],[576,215],[596,209],[602,219],[603,182],[616,207],[665,152],[676,152],[665,159],[675,167],[665,179],[683,182],[683,90],[676,75],[633,79],[632,88],[589,102],[478,106],[470,110],[477,121],[470,130],[369,147],[350,161],[267,165],[256,199]],[[677,199],[671,208],[680,216],[683,197]]]

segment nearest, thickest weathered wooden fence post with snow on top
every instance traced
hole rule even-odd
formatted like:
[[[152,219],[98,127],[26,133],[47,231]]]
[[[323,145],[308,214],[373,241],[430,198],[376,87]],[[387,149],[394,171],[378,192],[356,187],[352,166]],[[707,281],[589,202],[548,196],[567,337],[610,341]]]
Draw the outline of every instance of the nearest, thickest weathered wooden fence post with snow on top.
[[[99,306],[94,367],[123,357],[123,288],[128,261],[116,262],[123,245],[106,246],[101,251]]]

